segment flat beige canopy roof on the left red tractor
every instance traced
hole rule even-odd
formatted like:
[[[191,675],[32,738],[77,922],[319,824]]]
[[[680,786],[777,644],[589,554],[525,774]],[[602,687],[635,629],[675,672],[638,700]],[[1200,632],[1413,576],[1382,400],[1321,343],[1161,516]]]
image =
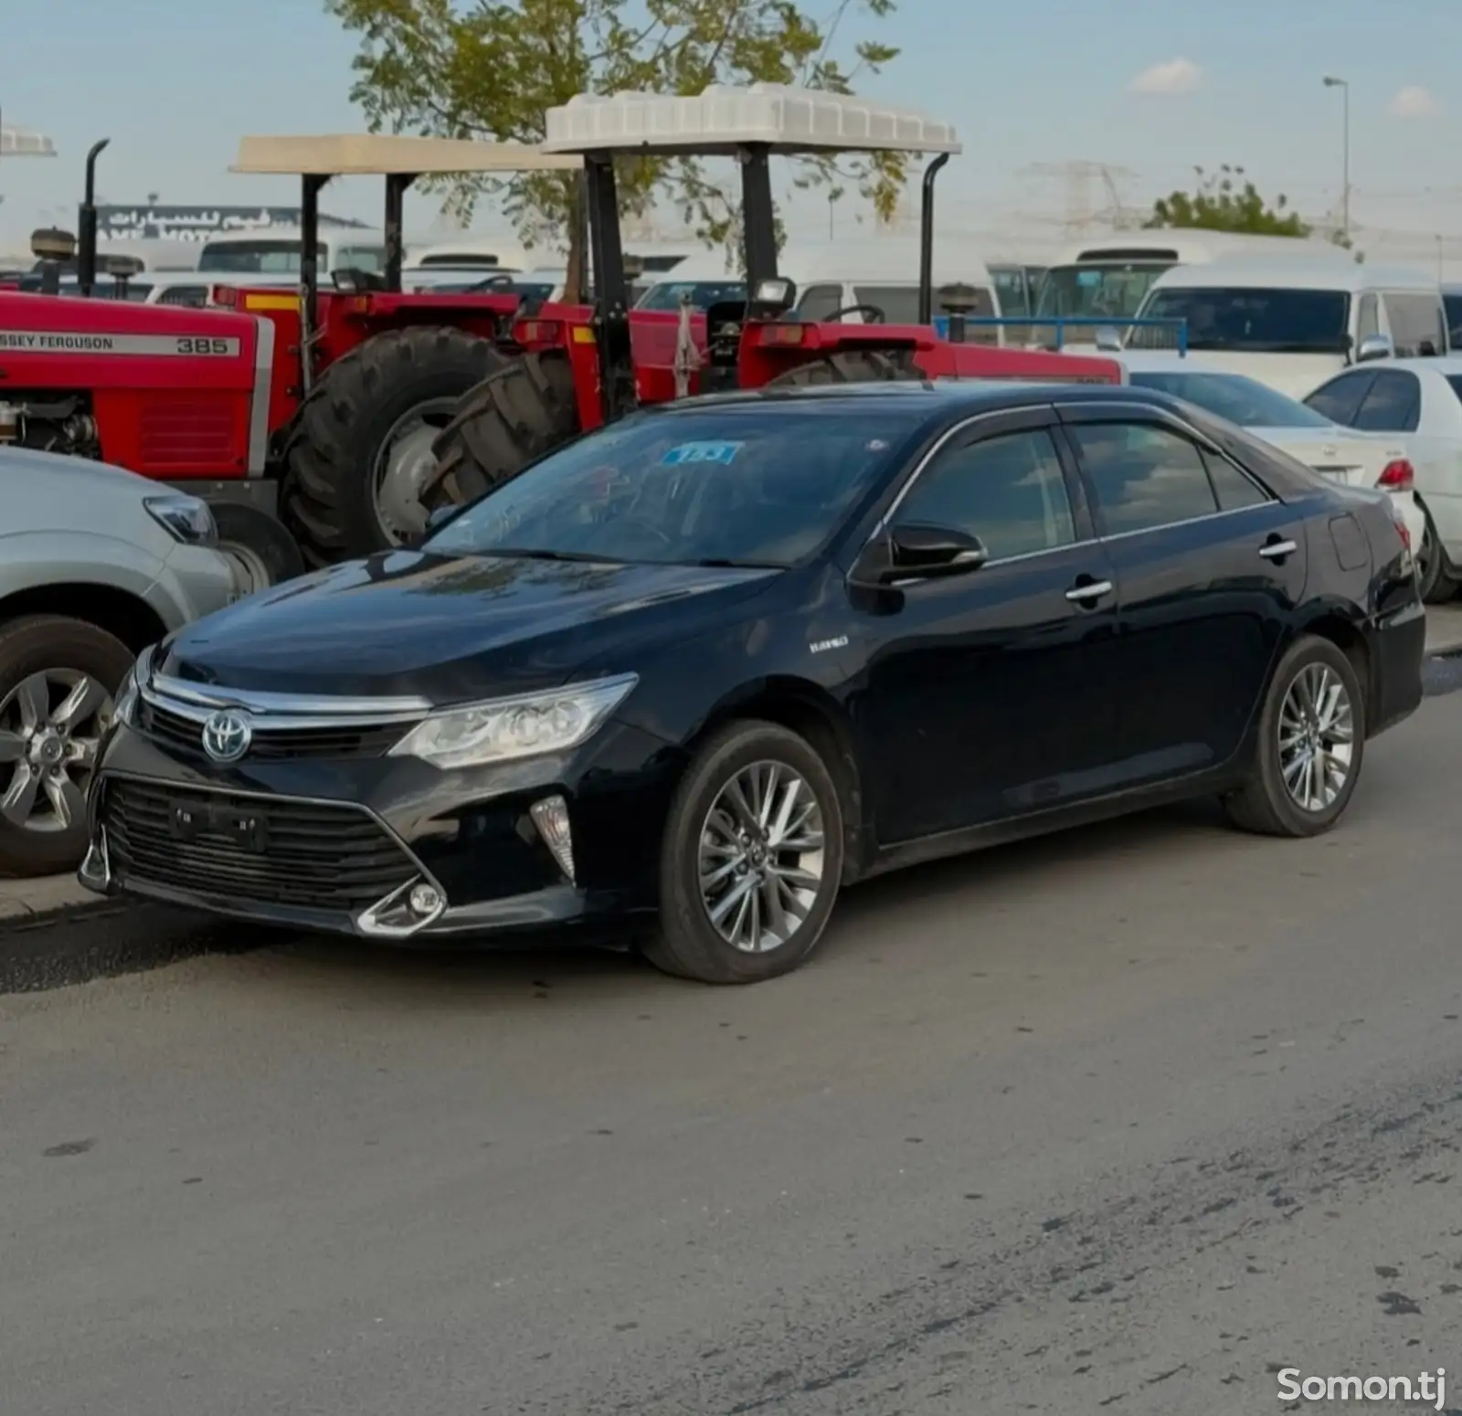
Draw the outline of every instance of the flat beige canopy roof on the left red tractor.
[[[583,164],[531,143],[382,133],[243,137],[231,172],[287,177],[437,177],[452,172],[573,171]]]

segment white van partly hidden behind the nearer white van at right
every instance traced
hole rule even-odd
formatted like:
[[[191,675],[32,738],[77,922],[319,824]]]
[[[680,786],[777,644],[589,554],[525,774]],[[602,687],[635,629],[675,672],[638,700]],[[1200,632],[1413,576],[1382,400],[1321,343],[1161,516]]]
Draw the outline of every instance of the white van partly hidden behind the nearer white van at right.
[[[1352,262],[1338,245],[1300,237],[1133,231],[1063,251],[1041,278],[1035,313],[1047,319],[1130,320],[1164,272],[1241,254],[1313,257],[1336,264]],[[1063,342],[1095,343],[1095,333],[1092,327],[1077,327],[1067,332]]]

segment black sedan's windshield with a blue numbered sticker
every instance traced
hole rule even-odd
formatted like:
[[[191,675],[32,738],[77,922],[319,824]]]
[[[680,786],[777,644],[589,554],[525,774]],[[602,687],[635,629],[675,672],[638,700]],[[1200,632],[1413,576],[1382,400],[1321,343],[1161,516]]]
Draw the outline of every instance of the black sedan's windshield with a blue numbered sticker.
[[[918,425],[912,409],[839,403],[636,414],[494,488],[425,549],[785,568],[827,541]]]

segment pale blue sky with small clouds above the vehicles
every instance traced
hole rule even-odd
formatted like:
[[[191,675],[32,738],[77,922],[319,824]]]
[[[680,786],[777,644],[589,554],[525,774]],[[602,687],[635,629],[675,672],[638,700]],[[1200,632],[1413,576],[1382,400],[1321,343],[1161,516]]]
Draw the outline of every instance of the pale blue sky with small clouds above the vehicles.
[[[819,15],[832,0],[804,0]],[[105,200],[297,202],[289,180],[228,172],[244,133],[363,130],[349,101],[354,38],[320,0],[44,0],[16,6],[0,47],[0,117],[56,142],[50,159],[0,159],[0,238],[72,225],[86,149],[110,137]],[[1338,208],[1349,83],[1357,222],[1456,238],[1462,251],[1462,0],[899,0],[861,18],[899,58],[864,92],[953,121],[963,155],[940,178],[962,228],[1058,228],[1105,206],[1066,164],[1107,165],[1124,205],[1189,186],[1194,165],[1243,165],[1306,213]],[[326,209],[379,222],[379,184],[349,180]],[[408,235],[436,203],[411,199]],[[833,222],[852,221],[839,210]],[[822,234],[826,206],[792,228]],[[475,228],[501,234],[491,212]]]

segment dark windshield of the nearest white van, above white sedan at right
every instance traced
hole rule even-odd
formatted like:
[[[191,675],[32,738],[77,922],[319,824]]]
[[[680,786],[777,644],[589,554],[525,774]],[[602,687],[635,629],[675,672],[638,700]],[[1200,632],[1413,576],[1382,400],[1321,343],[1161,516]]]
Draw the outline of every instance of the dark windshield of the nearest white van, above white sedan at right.
[[[1344,291],[1269,286],[1159,289],[1142,310],[1143,319],[1186,320],[1190,349],[1249,354],[1345,354],[1349,313]]]

